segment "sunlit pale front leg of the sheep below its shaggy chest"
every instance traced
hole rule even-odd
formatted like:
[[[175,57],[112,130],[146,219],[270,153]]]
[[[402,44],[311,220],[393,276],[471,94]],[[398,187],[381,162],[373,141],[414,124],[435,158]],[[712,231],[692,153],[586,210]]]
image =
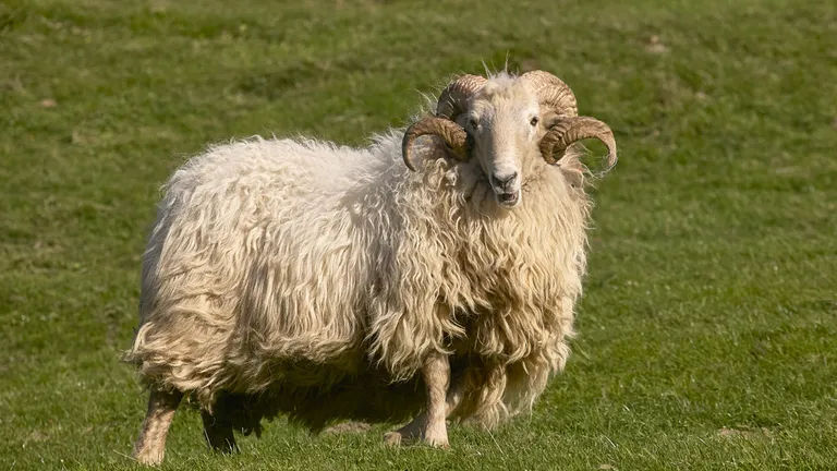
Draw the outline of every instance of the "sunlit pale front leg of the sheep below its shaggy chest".
[[[448,426],[445,422],[462,400],[462,381],[450,389],[450,363],[444,353],[432,353],[422,366],[422,377],[427,388],[427,406],[409,424],[384,436],[387,445],[423,440],[428,445],[448,448]]]

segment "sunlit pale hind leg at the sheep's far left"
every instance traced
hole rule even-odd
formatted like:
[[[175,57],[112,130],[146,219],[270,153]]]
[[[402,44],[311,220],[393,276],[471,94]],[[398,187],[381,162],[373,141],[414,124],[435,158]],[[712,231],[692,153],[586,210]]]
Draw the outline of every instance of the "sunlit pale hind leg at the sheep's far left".
[[[183,392],[151,389],[148,411],[140,436],[134,444],[134,459],[142,464],[159,464],[166,452],[166,435],[169,433],[174,411],[183,399]]]

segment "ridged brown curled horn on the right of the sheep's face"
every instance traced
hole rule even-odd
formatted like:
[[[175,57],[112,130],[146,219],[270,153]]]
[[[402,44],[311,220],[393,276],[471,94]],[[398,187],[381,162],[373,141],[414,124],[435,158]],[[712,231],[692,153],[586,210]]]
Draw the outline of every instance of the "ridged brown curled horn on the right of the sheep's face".
[[[532,71],[521,75],[538,97],[541,107],[546,109],[542,120],[547,129],[541,140],[541,154],[547,164],[553,165],[563,157],[567,148],[577,141],[597,138],[607,146],[607,167],[610,170],[617,160],[614,132],[604,122],[587,117],[579,117],[575,95],[560,78],[544,71]]]

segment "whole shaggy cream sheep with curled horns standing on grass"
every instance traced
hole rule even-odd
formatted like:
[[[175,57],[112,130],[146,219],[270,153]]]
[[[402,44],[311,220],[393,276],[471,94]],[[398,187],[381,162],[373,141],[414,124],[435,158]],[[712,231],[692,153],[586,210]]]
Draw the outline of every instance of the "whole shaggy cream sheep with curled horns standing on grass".
[[[313,432],[412,418],[385,442],[448,447],[447,419],[530,411],[574,335],[584,138],[614,166],[612,132],[563,82],[499,72],[457,77],[365,148],[255,137],[189,160],[125,353],[150,390],[135,459],[162,461],[184,395],[227,452],[279,414]]]

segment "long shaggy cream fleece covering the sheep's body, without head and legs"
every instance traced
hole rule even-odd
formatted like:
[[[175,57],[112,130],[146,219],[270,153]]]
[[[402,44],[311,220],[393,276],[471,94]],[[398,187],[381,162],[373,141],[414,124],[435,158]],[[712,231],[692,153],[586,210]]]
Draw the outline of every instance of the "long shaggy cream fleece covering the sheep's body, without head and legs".
[[[256,422],[322,424],[379,416],[364,412],[376,387],[386,416],[413,413],[393,385],[439,350],[466,378],[457,416],[529,410],[573,334],[591,208],[578,171],[525,162],[508,210],[476,159],[411,172],[400,146],[397,131],[360,149],[251,138],[180,168],[143,259],[126,355],[141,376],[206,409],[240,395]],[[329,395],[339,410],[315,403]]]

